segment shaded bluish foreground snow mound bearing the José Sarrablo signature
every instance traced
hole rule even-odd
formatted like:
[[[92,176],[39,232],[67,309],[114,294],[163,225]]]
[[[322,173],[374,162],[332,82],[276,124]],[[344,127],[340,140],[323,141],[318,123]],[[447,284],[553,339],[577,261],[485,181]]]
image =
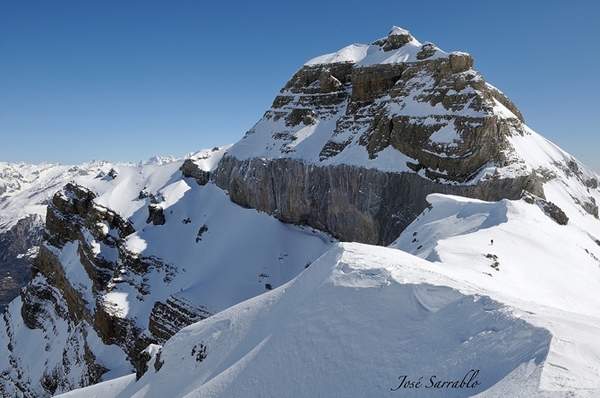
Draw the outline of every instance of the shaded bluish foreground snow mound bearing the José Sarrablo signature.
[[[104,396],[464,397],[544,361],[547,330],[489,297],[420,283],[424,267],[339,245],[281,288],[182,330],[158,371]]]

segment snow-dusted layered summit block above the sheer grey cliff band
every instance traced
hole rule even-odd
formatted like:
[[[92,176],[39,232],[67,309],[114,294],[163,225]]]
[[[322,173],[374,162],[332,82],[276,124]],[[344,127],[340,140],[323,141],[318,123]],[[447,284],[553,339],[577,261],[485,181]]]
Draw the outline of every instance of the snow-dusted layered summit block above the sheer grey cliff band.
[[[496,124],[488,119],[521,120],[472,66],[469,54],[422,45],[394,27],[371,44],[308,61],[230,156],[423,170],[432,179],[468,180],[483,157],[500,161],[504,149],[502,140],[484,153],[474,148]],[[407,129],[413,132],[402,134]],[[457,164],[470,165],[459,171]]]

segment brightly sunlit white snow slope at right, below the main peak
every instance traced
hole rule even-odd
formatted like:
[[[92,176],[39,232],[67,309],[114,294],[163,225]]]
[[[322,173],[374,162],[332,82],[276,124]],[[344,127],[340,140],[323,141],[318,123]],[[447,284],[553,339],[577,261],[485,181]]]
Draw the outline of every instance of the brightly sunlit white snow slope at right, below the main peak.
[[[553,342],[539,388],[581,389],[581,396],[590,397],[600,392],[600,344],[594,337],[600,330],[598,220],[580,214],[560,225],[526,200],[494,203],[443,195],[428,200],[431,209],[391,247],[430,260],[428,271],[472,283],[547,328]],[[575,207],[565,208],[574,215]],[[523,383],[525,375],[535,373],[520,372]],[[507,383],[498,391],[506,388]],[[586,395],[586,389],[594,392]]]

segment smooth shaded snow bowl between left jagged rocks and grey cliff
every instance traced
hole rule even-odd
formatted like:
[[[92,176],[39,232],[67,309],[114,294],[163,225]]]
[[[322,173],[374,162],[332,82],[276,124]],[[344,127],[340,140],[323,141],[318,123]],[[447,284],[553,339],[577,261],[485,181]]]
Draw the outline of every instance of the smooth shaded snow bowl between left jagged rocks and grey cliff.
[[[177,297],[216,313],[263,293],[267,283],[277,287],[289,281],[330,245],[330,238],[320,232],[244,209],[214,185],[201,187],[182,178],[180,166],[181,162],[115,166],[114,180],[80,180],[98,194],[95,203],[132,222],[136,232],[127,237],[125,250],[160,259],[171,270],[145,276],[151,297],[144,300],[136,298],[142,280],[135,275],[115,280],[105,295],[123,317],[138,319],[140,327],[147,327],[144,320],[154,302],[169,294],[176,292]],[[139,199],[140,191],[159,198],[164,225],[147,224],[151,199]],[[110,258],[114,251],[100,247],[98,255]]]

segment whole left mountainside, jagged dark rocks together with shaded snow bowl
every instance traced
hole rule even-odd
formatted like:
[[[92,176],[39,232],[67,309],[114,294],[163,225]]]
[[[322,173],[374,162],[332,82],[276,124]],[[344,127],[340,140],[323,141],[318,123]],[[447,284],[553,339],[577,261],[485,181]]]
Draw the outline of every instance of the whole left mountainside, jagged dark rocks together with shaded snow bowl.
[[[0,328],[0,395],[141,376],[151,344],[289,281],[329,247],[321,232],[290,229],[200,185],[199,171],[209,175],[223,152],[186,167],[114,166],[56,193],[31,280]],[[251,228],[232,231],[235,223]]]

